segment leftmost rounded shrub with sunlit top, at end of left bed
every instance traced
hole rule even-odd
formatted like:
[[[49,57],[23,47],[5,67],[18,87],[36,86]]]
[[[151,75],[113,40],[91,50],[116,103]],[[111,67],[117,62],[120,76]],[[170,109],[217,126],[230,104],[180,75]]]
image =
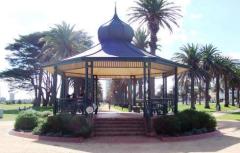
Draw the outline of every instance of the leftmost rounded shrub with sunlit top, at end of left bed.
[[[28,110],[20,112],[16,118],[14,128],[15,130],[32,130],[38,124],[38,117],[36,111]]]

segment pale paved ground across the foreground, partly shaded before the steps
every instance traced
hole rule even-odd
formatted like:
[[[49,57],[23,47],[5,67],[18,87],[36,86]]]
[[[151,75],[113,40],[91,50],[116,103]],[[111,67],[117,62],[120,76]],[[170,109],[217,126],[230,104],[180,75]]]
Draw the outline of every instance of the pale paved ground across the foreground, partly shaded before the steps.
[[[147,137],[95,137],[83,143],[36,141],[9,135],[12,127],[13,122],[0,121],[0,153],[240,152],[240,122],[219,122],[222,136],[182,142],[161,142]]]

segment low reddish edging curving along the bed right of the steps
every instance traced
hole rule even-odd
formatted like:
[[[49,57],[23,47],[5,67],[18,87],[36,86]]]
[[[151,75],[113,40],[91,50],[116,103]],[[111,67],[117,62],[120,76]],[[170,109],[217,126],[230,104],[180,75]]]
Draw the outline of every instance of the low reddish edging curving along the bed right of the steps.
[[[175,141],[189,141],[189,140],[198,140],[203,138],[209,138],[212,136],[221,136],[222,133],[218,130],[208,133],[189,135],[189,136],[179,136],[179,137],[166,137],[166,136],[157,136],[161,141],[166,142],[175,142]]]

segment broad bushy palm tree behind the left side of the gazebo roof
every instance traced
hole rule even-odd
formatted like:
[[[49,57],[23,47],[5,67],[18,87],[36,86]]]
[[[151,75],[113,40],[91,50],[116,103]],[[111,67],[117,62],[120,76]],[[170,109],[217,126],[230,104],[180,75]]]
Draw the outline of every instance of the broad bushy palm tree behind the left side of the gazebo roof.
[[[91,37],[89,37],[87,33],[83,31],[74,31],[74,26],[65,22],[62,22],[62,24],[56,24],[55,27],[47,32],[46,36],[43,37],[41,41],[45,42],[42,58],[48,62],[56,62],[63,58],[73,56],[79,52],[87,50],[93,44]],[[56,80],[53,81],[56,82]],[[64,82],[65,78],[62,78],[62,84]],[[74,87],[75,89],[79,89],[80,87],[80,80],[77,78],[74,79]],[[79,94],[77,90],[74,90],[74,92]],[[52,97],[54,98],[56,95],[52,95]],[[53,101],[54,99],[52,102]]]

